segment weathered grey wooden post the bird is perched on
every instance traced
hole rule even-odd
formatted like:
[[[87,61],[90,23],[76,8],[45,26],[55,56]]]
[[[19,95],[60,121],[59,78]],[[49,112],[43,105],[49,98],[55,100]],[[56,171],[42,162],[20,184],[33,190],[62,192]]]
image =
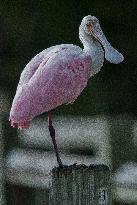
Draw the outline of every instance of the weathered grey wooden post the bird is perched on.
[[[110,205],[110,170],[106,165],[54,168],[49,205]]]

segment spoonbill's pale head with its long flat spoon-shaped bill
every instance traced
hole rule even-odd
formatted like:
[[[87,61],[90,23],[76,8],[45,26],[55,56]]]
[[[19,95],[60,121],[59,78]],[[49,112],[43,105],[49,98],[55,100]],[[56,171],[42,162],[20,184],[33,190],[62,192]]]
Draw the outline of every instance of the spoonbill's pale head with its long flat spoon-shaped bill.
[[[95,16],[88,15],[83,18],[79,27],[79,37],[83,44],[90,41],[92,45],[94,41],[98,41],[104,48],[106,60],[110,63],[118,64],[124,60],[123,55],[113,48],[106,39],[99,20]]]

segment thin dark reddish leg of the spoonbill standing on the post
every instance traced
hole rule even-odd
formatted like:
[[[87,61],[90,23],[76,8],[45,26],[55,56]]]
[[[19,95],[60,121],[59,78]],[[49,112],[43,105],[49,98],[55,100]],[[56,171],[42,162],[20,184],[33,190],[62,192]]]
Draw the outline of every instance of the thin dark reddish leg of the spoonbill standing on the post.
[[[52,139],[52,143],[53,143],[53,146],[54,146],[54,150],[55,150],[55,153],[56,153],[58,165],[59,165],[59,167],[62,168],[63,164],[62,164],[62,161],[61,161],[60,156],[59,156],[58,146],[57,146],[56,139],[55,139],[55,129],[52,125],[51,112],[50,111],[48,112],[48,127],[49,127],[50,136],[51,136],[51,139]]]

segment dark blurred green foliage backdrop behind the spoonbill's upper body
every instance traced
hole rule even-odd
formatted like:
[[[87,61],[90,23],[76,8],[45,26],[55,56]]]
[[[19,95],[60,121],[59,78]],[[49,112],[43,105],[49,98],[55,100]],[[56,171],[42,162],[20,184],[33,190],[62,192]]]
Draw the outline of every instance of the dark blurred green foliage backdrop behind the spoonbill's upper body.
[[[104,33],[125,61],[105,62],[78,100],[57,108],[56,113],[136,113],[137,1],[5,0],[0,5],[0,84],[12,98],[22,69],[35,54],[61,43],[82,46],[78,27],[91,14],[100,19]]]

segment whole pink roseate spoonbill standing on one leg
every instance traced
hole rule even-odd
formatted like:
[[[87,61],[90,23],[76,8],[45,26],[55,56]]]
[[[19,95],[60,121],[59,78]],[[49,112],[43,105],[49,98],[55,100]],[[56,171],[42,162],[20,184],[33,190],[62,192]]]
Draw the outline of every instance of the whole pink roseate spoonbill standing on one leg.
[[[79,26],[79,38],[84,49],[73,44],[52,46],[37,54],[26,65],[9,117],[11,126],[27,128],[35,116],[48,112],[49,131],[60,167],[62,162],[50,111],[62,104],[73,103],[89,78],[100,71],[104,57],[114,64],[124,60],[123,55],[107,41],[99,20],[94,16],[83,18]]]

